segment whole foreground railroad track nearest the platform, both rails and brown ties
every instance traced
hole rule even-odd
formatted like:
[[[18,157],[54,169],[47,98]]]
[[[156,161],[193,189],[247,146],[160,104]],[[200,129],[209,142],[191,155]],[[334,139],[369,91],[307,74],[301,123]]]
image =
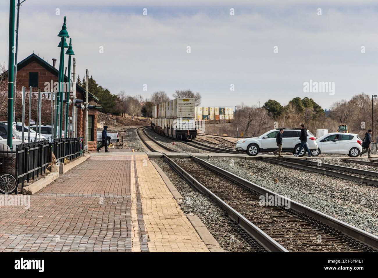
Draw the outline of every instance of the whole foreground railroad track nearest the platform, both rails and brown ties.
[[[191,160],[178,162],[164,155],[164,161],[190,185],[217,202],[266,251],[376,252],[378,249],[377,236],[280,196],[193,155]],[[276,200],[261,205],[264,196],[274,196]]]

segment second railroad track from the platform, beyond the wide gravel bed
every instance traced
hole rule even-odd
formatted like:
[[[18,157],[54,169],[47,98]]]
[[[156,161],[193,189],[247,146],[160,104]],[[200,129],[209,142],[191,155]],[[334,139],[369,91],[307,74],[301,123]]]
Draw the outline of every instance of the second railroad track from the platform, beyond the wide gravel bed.
[[[276,163],[291,168],[298,168],[305,171],[330,175],[346,180],[352,180],[354,182],[363,182],[369,185],[378,185],[378,172],[375,171],[367,171],[358,168],[350,168],[300,158],[287,158],[286,160],[278,160],[270,157],[262,157],[261,159],[266,162]]]

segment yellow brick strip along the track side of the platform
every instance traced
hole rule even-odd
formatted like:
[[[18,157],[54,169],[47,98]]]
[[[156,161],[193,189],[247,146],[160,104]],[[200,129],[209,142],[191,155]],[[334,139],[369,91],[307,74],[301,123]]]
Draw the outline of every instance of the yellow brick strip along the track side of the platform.
[[[135,162],[149,251],[209,252],[148,158]]]

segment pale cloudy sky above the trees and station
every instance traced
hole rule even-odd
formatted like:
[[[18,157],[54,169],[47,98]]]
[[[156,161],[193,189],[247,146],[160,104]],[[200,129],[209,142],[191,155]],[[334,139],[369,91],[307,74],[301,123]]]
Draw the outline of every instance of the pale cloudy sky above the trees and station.
[[[327,109],[361,92],[378,93],[376,1],[245,2],[26,0],[18,59],[33,51],[49,63],[59,59],[57,34],[67,16],[79,75],[88,68],[112,93],[172,96],[191,89],[203,106],[308,96]],[[7,66],[9,1],[0,2],[0,25],[0,62]],[[310,79],[335,82],[335,94],[304,93]]]

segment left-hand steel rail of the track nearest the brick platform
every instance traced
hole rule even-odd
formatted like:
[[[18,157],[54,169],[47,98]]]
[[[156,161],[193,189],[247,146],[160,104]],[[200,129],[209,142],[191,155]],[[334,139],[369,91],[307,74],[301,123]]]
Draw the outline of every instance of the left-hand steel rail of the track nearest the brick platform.
[[[252,236],[256,241],[258,241],[266,250],[270,252],[288,252],[288,250],[270,236],[268,236],[265,232],[263,232],[260,228],[256,225],[251,223],[248,219],[246,219],[242,214],[234,210],[231,206],[229,206],[226,202],[220,199],[217,195],[212,193],[208,188],[203,186],[200,182],[198,182],[194,177],[192,177],[188,172],[186,172],[183,168],[177,165],[172,159],[167,157],[164,154],[163,157],[164,161],[168,163],[168,165],[179,174],[184,180],[188,183],[193,185],[197,188],[201,193],[209,196],[212,200],[217,202],[220,207],[225,210],[229,217],[234,220],[243,230],[245,230],[250,236]]]

